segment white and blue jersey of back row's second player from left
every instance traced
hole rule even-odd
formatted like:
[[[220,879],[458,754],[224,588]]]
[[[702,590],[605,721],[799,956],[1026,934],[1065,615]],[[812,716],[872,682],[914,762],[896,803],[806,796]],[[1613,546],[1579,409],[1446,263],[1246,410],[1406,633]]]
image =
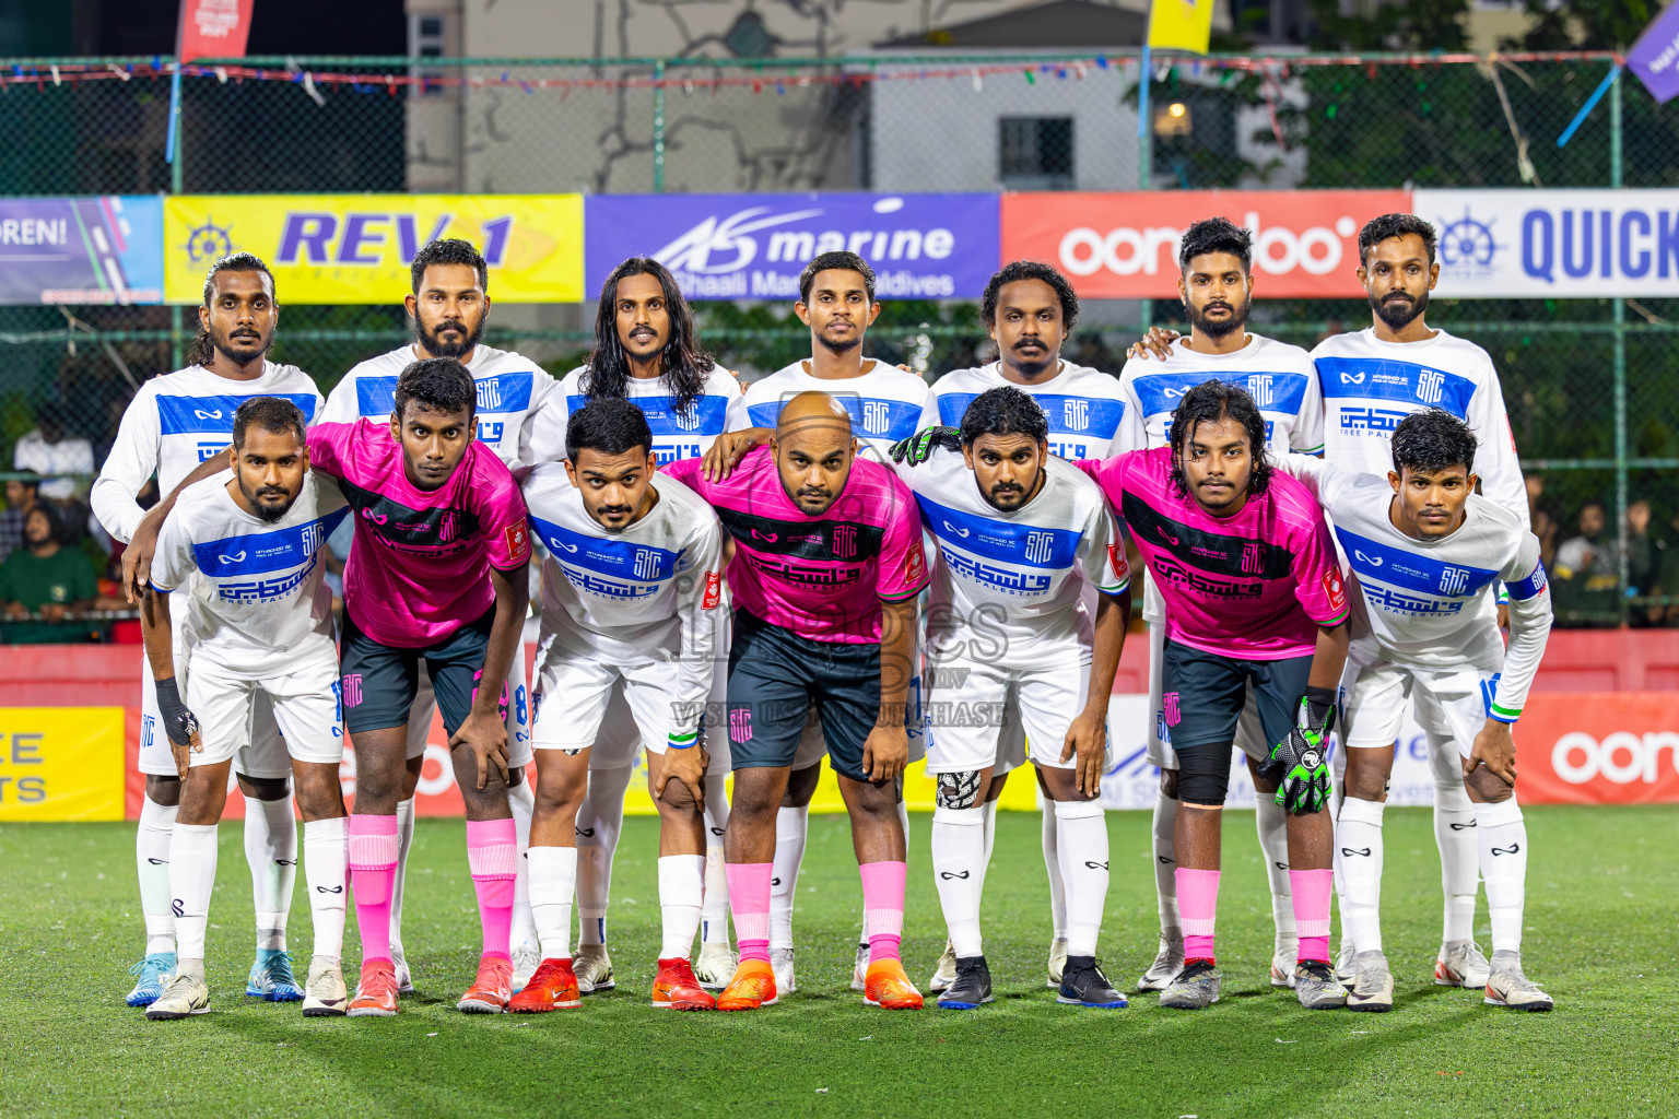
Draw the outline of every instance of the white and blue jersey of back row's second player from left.
[[[396,398],[396,377],[403,369],[420,361],[413,346],[393,349],[369,357],[344,374],[326,399],[327,423],[390,423]],[[524,354],[472,347],[467,372],[479,389],[477,421],[479,443],[495,451],[509,466],[537,461],[531,451],[531,433],[537,411],[547,403],[559,384],[547,369]]]

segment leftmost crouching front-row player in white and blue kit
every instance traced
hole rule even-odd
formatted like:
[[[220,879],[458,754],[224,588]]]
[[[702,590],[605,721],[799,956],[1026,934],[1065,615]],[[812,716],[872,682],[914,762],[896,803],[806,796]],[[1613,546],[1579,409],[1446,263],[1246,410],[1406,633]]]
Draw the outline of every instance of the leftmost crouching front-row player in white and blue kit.
[[[176,966],[148,1018],[210,1008],[205,928],[215,887],[217,824],[235,753],[269,698],[297,782],[304,815],[304,881],[314,945],[306,1017],[343,1015],[344,755],[332,592],[321,582],[321,547],[344,518],[344,497],[309,475],[304,413],[255,396],[233,413],[233,476],[186,487],[158,537],[141,607],[146,656],[156,676],[163,728],[181,778],[170,846]],[[181,599],[171,609],[165,597]],[[175,616],[190,639],[186,679],[176,676]]]

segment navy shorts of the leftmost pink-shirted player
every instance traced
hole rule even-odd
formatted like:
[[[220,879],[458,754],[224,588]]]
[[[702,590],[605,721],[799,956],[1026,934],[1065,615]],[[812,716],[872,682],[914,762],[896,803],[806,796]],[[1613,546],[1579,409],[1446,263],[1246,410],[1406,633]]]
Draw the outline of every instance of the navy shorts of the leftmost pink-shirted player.
[[[344,688],[344,730],[361,735],[408,725],[408,710],[420,688],[420,661],[432,674],[443,730],[453,735],[472,713],[472,700],[484,674],[484,653],[490,648],[492,606],[435,644],[398,649],[361,632],[344,604],[344,634],[337,646],[337,673]]]

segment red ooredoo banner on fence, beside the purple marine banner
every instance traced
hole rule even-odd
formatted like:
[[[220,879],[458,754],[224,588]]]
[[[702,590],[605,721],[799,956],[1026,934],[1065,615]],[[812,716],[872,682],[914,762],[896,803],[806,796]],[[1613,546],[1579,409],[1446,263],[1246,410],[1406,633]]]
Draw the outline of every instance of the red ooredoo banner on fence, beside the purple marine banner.
[[[1254,297],[1348,299],[1358,228],[1409,210],[1404,190],[1004,195],[1002,260],[1053,263],[1085,299],[1174,299],[1184,230],[1226,216],[1254,235]]]

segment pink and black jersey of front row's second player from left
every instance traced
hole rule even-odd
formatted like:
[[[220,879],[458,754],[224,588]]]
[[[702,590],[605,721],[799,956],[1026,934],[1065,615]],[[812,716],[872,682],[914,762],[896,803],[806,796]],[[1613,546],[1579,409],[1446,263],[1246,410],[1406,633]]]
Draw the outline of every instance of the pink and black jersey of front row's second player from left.
[[[418,649],[475,622],[495,604],[490,567],[531,559],[519,485],[477,440],[437,490],[408,481],[390,426],[366,419],[309,428],[309,465],[339,480],[356,513],[344,602],[379,644]]]

